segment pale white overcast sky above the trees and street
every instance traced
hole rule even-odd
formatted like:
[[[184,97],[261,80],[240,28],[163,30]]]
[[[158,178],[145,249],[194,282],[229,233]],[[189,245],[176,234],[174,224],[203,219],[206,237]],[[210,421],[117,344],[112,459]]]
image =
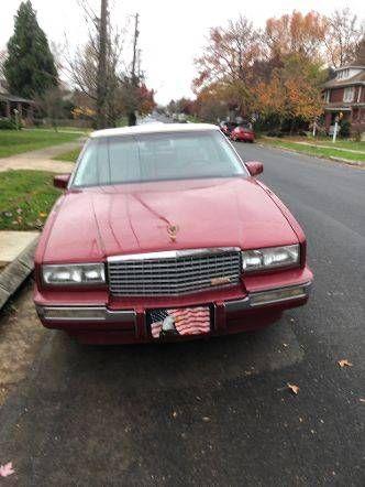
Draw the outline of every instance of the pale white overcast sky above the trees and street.
[[[0,0],[0,50],[13,31],[13,15],[21,0]],[[37,19],[49,42],[82,44],[87,29],[77,0],[32,0]],[[89,0],[92,7],[98,0]],[[115,23],[125,26],[135,12],[141,14],[142,68],[147,85],[155,88],[162,104],[191,96],[193,58],[201,52],[210,26],[222,25],[240,13],[263,26],[269,17],[294,9],[330,13],[349,7],[365,18],[364,0],[110,0]],[[129,50],[126,45],[126,51]]]

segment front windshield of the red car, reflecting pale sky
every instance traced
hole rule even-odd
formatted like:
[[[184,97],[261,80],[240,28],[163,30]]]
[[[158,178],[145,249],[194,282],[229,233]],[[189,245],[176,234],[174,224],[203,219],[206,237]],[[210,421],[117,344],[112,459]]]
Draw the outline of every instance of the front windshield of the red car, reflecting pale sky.
[[[245,175],[218,130],[165,132],[90,139],[73,186]]]

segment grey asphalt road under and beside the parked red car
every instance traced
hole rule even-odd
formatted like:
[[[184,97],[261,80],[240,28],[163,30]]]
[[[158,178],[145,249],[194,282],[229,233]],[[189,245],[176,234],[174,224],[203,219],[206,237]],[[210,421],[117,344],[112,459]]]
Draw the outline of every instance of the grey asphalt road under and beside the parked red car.
[[[364,485],[365,171],[236,147],[305,227],[310,303],[257,334],[181,345],[44,333],[0,410],[0,464],[16,469],[4,485]]]

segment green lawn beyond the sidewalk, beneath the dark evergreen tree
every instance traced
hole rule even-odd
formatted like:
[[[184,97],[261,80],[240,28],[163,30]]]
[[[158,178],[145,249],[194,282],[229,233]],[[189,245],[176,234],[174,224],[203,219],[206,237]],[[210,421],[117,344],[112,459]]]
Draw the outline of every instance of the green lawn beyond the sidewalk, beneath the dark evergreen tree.
[[[52,130],[0,130],[0,158],[44,149],[79,139],[80,133],[55,132]]]

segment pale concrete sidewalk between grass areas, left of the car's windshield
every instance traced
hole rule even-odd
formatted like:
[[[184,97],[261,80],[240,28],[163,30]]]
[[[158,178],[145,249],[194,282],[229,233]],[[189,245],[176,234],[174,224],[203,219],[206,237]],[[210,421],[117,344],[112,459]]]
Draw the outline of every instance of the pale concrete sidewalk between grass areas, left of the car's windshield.
[[[0,159],[0,172],[9,170],[34,170],[49,171],[54,173],[67,173],[73,171],[73,162],[54,161],[53,158],[64,152],[81,148],[82,141],[67,142],[49,148],[38,149],[36,151],[23,152],[22,154],[11,155]]]

